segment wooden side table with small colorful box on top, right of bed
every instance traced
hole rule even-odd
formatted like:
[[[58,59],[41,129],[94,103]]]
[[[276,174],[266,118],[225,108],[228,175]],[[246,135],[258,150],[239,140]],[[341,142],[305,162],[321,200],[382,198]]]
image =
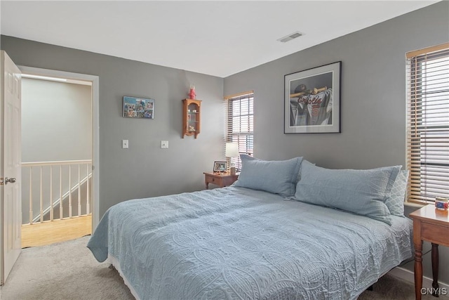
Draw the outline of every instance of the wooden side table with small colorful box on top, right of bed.
[[[415,297],[422,296],[422,241],[432,244],[432,275],[434,292],[438,291],[438,244],[449,247],[448,211],[426,205],[410,214],[413,219],[413,244],[415,244]],[[438,296],[438,294],[434,294]]]

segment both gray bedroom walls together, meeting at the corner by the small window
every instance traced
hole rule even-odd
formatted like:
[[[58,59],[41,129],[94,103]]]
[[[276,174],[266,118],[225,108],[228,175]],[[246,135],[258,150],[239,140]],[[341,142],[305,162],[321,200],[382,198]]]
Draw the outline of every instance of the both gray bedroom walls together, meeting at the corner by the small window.
[[[13,37],[2,36],[1,48],[18,65],[100,76],[102,214],[133,197],[203,188],[202,172],[224,157],[222,95],[241,91],[255,91],[257,157],[301,155],[330,168],[405,165],[405,53],[448,41],[448,11],[448,1],[442,1],[227,77],[224,85],[217,77]],[[338,60],[342,133],[283,134],[283,76]],[[180,138],[180,103],[191,83],[203,100],[198,140]],[[155,119],[122,118],[125,95],[156,99]],[[124,138],[130,141],[128,150],[121,149]],[[170,141],[168,150],[159,148],[162,139]],[[440,266],[448,266],[448,249],[441,247],[440,256]],[[424,274],[431,276],[429,254],[424,257]],[[441,268],[440,274],[441,281],[449,282],[447,269]]]

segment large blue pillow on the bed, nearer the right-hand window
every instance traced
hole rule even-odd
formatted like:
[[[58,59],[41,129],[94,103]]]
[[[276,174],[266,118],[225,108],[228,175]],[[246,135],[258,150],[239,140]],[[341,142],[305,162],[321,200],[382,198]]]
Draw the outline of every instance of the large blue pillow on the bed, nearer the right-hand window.
[[[335,207],[391,225],[385,201],[401,166],[369,170],[325,169],[313,164],[301,167],[295,200]]]

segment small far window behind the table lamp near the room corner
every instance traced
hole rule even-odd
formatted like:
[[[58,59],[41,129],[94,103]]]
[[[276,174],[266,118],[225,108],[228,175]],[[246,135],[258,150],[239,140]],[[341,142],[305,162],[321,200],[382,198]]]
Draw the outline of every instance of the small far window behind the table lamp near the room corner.
[[[239,154],[253,155],[254,153],[254,115],[253,91],[241,93],[237,96],[225,97],[226,100],[226,136],[227,142],[239,144]],[[240,157],[232,157],[228,162],[241,169]]]

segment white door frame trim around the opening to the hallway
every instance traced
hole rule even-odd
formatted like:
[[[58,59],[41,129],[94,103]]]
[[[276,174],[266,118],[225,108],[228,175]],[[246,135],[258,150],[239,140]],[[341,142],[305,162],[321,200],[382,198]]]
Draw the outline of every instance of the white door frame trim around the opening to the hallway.
[[[100,142],[98,138],[99,122],[99,103],[100,103],[100,77],[89,74],[80,74],[58,70],[41,69],[39,67],[26,67],[18,65],[20,71],[25,74],[41,75],[48,77],[61,77],[65,79],[76,79],[92,82],[92,232],[97,228],[100,221]]]

